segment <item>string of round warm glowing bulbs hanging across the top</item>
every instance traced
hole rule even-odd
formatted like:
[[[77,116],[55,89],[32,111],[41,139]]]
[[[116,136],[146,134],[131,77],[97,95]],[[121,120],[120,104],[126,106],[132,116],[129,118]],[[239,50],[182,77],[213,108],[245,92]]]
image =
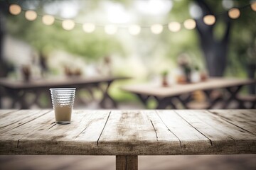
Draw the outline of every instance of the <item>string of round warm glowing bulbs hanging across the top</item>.
[[[242,6],[240,8],[244,8],[244,7],[247,7],[247,6]],[[250,4],[250,7],[252,8],[252,11],[256,11],[256,2],[252,2],[252,4]],[[21,6],[19,6],[18,4],[11,4],[9,6],[9,12],[13,15],[18,15],[19,13],[21,13],[21,11],[25,11],[25,18],[28,21],[34,21],[34,20],[36,20],[36,18],[38,16],[36,11],[23,10],[21,8]],[[218,14],[218,15],[220,15],[220,14]],[[39,15],[39,16],[41,16],[41,15]],[[240,16],[239,8],[231,8],[228,11],[228,16],[230,18],[233,18],[233,19],[239,18],[239,16]],[[44,15],[44,16],[41,16],[41,17],[42,17],[42,22],[46,26],[52,25],[55,21],[54,16]],[[62,21],[62,26],[63,26],[63,29],[65,29],[65,30],[73,30],[73,28],[75,28],[75,24],[77,24],[73,20],[63,20],[63,19],[58,19],[58,20]],[[213,25],[215,23],[215,21],[216,21],[216,18],[215,18],[214,15],[203,16],[203,22],[206,23],[206,25],[208,25],[208,26]],[[164,26],[166,26],[166,25],[167,24],[164,24],[164,25],[154,24],[152,26],[132,25],[132,26],[127,26],[127,29],[128,29],[128,31],[131,35],[138,35],[141,32],[142,27],[143,28],[150,28],[151,32],[154,33],[154,34],[160,34],[163,31]],[[196,28],[196,21],[194,19],[187,19],[186,21],[183,22],[183,26],[184,26],[184,28],[186,28],[188,30],[192,30],[192,29]],[[84,23],[84,24],[82,24],[82,29],[85,31],[85,33],[92,33],[93,31],[95,31],[95,28],[96,28],[96,26],[95,26],[94,23]],[[172,32],[178,32],[179,30],[181,30],[181,23],[173,21],[173,22],[168,24],[168,28]],[[114,33],[117,33],[117,26],[114,26],[114,25],[105,26],[105,33],[107,33],[109,35],[113,35]]]

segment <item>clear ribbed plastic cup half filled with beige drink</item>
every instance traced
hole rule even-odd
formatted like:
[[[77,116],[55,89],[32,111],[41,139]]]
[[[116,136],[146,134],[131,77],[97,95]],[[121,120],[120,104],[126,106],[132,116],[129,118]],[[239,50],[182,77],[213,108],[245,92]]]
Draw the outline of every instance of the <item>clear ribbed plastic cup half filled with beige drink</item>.
[[[75,88],[50,89],[50,96],[55,113],[55,122],[69,124],[74,106]]]

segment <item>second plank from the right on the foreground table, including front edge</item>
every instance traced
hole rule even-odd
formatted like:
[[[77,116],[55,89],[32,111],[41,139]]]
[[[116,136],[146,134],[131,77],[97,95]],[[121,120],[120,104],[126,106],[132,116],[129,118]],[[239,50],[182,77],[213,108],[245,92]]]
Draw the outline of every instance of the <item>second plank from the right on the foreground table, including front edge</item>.
[[[256,152],[255,135],[224,121],[219,116],[208,111],[178,111],[177,113],[211,140],[213,147],[206,152],[223,154]]]

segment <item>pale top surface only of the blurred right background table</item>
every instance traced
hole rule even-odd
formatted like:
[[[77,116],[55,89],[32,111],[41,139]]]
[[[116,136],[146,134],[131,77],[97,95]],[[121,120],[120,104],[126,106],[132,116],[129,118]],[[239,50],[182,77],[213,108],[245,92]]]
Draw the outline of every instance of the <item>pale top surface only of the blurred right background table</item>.
[[[191,93],[196,90],[213,90],[222,89],[232,86],[244,86],[247,84],[256,84],[253,79],[233,79],[233,78],[210,78],[206,81],[201,81],[193,84],[174,84],[168,87],[163,87],[156,84],[137,84],[123,86],[124,91],[129,91],[134,94],[144,94],[157,97],[169,97],[181,94]]]

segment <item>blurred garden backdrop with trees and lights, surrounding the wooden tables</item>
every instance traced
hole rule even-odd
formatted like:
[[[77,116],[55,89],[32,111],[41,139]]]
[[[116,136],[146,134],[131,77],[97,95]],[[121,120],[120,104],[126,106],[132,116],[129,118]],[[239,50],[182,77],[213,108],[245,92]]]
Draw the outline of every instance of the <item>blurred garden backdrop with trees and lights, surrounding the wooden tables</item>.
[[[163,75],[168,75],[170,87],[186,84],[184,63],[201,79],[255,79],[255,11],[256,3],[250,0],[0,0],[0,106],[21,108],[11,104],[6,79],[31,84],[73,79],[73,74],[75,79],[130,77],[110,86],[119,109],[154,108],[154,101],[145,107],[121,87],[161,86]],[[255,84],[240,92],[255,101]],[[78,93],[89,99],[77,101],[75,108],[101,108],[99,91],[93,100],[85,91]],[[204,98],[198,91],[193,96]],[[26,100],[36,99],[32,93]],[[51,108],[48,95],[37,100],[41,105],[30,108]],[[255,169],[254,155],[151,159],[159,166],[147,159],[139,158],[140,169]],[[114,157],[103,160],[100,166],[93,157],[1,156],[0,169],[114,169]]]

